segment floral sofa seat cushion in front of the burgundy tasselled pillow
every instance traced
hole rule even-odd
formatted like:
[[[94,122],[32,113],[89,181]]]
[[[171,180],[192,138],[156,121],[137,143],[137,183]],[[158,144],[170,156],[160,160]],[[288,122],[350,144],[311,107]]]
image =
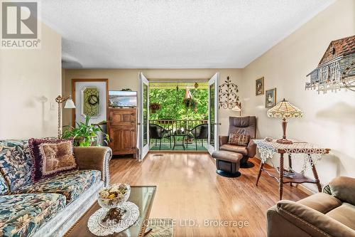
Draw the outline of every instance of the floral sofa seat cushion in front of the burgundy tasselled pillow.
[[[98,170],[80,169],[41,179],[30,186],[24,186],[18,193],[63,194],[69,204],[100,180],[101,172]]]

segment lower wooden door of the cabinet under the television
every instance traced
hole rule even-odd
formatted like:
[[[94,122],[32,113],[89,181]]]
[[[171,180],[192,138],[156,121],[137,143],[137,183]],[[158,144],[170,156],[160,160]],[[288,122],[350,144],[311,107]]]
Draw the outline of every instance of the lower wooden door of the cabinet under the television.
[[[114,154],[136,153],[135,126],[111,126],[109,133],[110,147]]]

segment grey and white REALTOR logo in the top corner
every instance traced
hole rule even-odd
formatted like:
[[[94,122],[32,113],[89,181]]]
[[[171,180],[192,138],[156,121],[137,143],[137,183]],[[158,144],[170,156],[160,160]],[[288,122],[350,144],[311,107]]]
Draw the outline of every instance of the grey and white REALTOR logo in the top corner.
[[[1,48],[39,48],[38,2],[1,2]]]

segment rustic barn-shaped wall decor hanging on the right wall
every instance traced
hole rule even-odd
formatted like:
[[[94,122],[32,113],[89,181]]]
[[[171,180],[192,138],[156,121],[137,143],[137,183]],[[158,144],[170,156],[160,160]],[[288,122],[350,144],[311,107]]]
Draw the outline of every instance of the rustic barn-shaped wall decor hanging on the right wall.
[[[330,42],[317,68],[309,75],[306,90],[326,93],[346,88],[355,91],[355,36]]]

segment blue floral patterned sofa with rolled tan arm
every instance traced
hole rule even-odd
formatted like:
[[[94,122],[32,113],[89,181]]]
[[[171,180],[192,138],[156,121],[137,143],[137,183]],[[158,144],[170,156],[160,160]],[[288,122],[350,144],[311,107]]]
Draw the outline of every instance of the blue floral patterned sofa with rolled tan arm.
[[[75,147],[79,169],[33,182],[28,141],[0,141],[0,236],[62,236],[109,183],[109,147]]]

